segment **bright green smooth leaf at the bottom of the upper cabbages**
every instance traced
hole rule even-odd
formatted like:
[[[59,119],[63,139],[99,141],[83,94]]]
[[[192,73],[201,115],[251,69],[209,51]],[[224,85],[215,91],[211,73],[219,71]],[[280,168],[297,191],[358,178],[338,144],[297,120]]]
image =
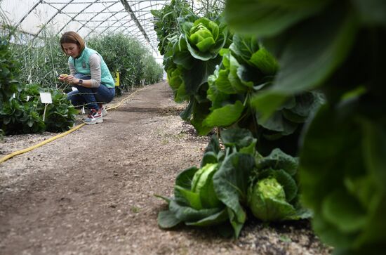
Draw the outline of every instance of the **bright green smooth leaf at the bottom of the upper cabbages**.
[[[240,101],[236,101],[234,105],[225,105],[221,108],[213,110],[206,119],[205,126],[230,126],[237,122],[241,113],[244,110],[244,105]]]

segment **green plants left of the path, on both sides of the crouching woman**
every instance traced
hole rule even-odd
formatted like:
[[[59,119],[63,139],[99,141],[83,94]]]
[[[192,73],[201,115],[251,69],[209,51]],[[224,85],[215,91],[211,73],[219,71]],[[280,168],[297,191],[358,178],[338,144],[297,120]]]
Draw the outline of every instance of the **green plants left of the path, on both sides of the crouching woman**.
[[[58,132],[71,128],[77,115],[65,95],[71,88],[57,79],[58,74],[69,72],[60,37],[44,30],[41,38],[32,39],[9,26],[4,27],[3,32],[0,40],[1,133]],[[136,39],[114,34],[87,41],[88,46],[95,46],[105,58],[113,77],[120,72],[117,94],[140,86],[142,81],[153,84],[162,78],[161,65]],[[45,105],[40,102],[39,92],[50,92],[53,97],[53,103],[46,108],[45,121]]]

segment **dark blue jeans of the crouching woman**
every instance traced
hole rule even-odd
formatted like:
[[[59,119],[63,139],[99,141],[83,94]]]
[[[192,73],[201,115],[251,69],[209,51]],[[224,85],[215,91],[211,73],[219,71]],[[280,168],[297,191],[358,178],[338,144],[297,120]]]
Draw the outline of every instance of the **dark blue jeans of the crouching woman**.
[[[90,76],[84,74],[75,74],[77,79],[91,79]],[[77,91],[67,93],[67,99],[71,101],[72,105],[84,105],[88,109],[99,110],[98,104],[110,103],[115,95],[115,88],[107,88],[107,86],[100,84],[98,88],[86,88],[84,86],[74,85]]]

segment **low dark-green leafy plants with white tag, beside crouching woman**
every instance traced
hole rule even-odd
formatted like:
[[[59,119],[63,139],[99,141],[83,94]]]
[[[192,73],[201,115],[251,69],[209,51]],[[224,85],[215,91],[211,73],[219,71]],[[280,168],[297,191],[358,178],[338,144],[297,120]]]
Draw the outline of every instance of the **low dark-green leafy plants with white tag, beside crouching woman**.
[[[18,81],[20,63],[11,54],[7,38],[0,38],[0,127],[5,134],[65,131],[72,127],[76,110],[67,96],[58,89],[43,89],[39,84]],[[50,92],[53,103],[46,107],[40,102],[40,92]]]

